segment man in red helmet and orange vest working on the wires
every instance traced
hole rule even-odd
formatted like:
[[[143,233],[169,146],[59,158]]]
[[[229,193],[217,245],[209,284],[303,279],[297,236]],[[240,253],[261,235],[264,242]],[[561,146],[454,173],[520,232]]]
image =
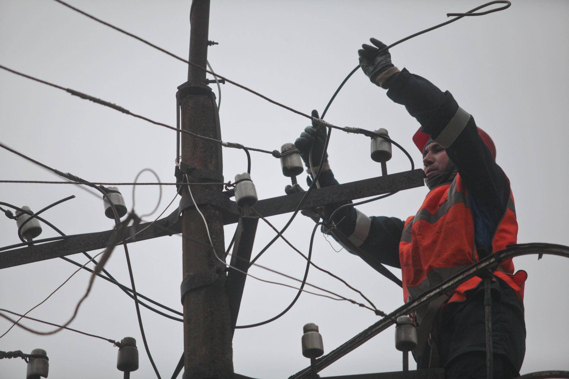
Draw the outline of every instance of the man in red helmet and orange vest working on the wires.
[[[476,126],[472,115],[459,107],[450,92],[395,67],[381,41],[370,41],[373,45],[364,44],[358,51],[360,66],[373,84],[387,89],[387,97],[404,105],[419,122],[413,140],[423,154],[425,182],[430,191],[417,214],[405,221],[368,217],[354,207],[337,211],[330,221],[357,249],[383,264],[401,268],[403,300],[407,302],[490,253],[515,244],[516,210],[509,180],[495,161],[496,147],[489,135]],[[318,113],[313,111],[312,116],[318,118]],[[313,123],[295,141],[307,167],[312,146],[315,172],[323,156],[326,129]],[[327,154],[319,183],[338,184]],[[326,206],[325,214],[331,215],[343,204]],[[523,270],[514,274],[509,259],[488,276],[493,377],[517,377],[525,355],[522,301],[527,274]],[[416,357],[419,369],[442,367],[447,378],[486,377],[481,282],[480,277],[463,282],[435,310],[436,322],[428,326],[428,345]],[[415,323],[420,323],[424,312],[413,315]]]

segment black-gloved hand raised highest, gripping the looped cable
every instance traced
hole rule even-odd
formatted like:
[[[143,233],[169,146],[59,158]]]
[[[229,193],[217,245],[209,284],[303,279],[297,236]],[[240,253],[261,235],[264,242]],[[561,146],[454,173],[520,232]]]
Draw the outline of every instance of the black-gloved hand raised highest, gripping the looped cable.
[[[389,50],[385,50],[380,55],[377,55],[378,51],[387,47],[386,44],[375,38],[370,38],[369,40],[376,47],[363,44],[361,45],[362,48],[357,51],[360,56],[361,69],[364,70],[364,73],[373,84],[386,88],[385,82],[387,78],[399,72],[399,69],[391,63]]]

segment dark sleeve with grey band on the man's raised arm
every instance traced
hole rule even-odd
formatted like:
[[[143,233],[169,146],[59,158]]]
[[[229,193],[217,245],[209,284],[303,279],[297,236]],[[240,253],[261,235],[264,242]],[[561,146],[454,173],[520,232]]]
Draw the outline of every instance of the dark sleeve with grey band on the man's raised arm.
[[[492,236],[508,206],[508,179],[480,138],[472,115],[459,107],[449,91],[406,69],[397,75],[387,96],[405,105],[421,131],[446,148],[471,198],[476,244],[491,252]]]

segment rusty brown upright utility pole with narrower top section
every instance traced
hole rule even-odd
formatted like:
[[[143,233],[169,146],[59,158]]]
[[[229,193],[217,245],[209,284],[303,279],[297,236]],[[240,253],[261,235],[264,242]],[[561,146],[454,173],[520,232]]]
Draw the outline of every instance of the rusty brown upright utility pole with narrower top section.
[[[208,50],[209,0],[193,0],[190,15],[189,61],[206,67]],[[179,86],[182,129],[220,140],[215,95],[204,84],[205,71],[188,67],[188,82]],[[184,166],[187,165],[187,166]],[[189,166],[189,168],[188,168]],[[221,146],[211,141],[182,135],[182,169],[190,182],[220,182]],[[221,191],[222,186],[194,186],[192,193]],[[188,194],[187,188],[184,194]],[[200,205],[207,220],[213,245],[225,261],[222,210]],[[204,221],[195,207],[184,211],[182,235],[209,242]],[[184,379],[233,377],[232,330],[226,290],[225,266],[211,247],[187,239],[182,245],[183,276],[187,292],[184,305]],[[221,275],[220,275],[221,274]]]

